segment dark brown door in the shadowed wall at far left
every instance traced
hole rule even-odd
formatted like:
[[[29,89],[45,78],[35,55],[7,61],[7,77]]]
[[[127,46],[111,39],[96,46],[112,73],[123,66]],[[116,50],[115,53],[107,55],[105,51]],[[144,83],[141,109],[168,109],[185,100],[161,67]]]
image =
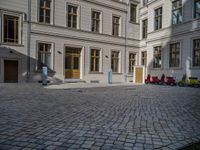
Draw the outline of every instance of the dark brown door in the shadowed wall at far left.
[[[4,82],[18,82],[18,61],[4,60]]]

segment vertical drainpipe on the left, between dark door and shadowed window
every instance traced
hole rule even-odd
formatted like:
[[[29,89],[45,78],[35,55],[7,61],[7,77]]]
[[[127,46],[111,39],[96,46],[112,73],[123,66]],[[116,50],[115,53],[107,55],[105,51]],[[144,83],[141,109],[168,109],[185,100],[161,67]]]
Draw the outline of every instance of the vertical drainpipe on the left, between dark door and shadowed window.
[[[27,16],[27,81],[30,79],[30,64],[31,64],[31,0],[28,0],[28,16]]]

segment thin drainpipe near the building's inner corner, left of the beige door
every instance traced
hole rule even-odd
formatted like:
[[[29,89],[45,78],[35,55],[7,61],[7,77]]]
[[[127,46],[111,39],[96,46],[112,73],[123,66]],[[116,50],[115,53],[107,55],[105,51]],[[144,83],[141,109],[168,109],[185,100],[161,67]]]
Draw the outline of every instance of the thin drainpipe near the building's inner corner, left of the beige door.
[[[128,1],[126,3],[126,18],[125,18],[125,43],[124,43],[124,78],[127,81],[127,71],[126,71],[126,51],[127,51],[127,21],[128,21]]]

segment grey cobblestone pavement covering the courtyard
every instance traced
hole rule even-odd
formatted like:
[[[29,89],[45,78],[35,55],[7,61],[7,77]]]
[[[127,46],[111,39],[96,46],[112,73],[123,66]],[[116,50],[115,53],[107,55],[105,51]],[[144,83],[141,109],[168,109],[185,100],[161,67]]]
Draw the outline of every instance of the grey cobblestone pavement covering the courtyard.
[[[168,150],[199,140],[197,88],[0,84],[0,150]]]

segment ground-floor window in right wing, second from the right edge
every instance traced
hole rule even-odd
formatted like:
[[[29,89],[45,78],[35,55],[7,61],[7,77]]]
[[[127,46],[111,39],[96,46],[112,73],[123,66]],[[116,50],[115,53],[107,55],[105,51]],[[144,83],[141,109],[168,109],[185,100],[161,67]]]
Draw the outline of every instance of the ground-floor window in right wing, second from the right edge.
[[[180,43],[170,44],[169,66],[179,67],[180,64]]]

